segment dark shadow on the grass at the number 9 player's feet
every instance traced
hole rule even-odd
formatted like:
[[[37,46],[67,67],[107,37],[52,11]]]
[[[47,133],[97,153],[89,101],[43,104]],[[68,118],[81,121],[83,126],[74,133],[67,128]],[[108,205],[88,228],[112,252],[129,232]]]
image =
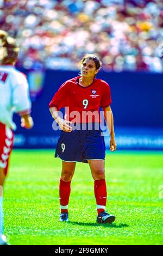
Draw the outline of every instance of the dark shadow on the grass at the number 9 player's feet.
[[[90,226],[90,227],[101,227],[103,226],[104,228],[126,228],[129,225],[126,223],[105,223],[105,224],[98,224],[98,223],[84,223],[84,222],[77,222],[77,221],[68,221],[68,224],[73,224],[73,225],[83,225],[83,226]]]

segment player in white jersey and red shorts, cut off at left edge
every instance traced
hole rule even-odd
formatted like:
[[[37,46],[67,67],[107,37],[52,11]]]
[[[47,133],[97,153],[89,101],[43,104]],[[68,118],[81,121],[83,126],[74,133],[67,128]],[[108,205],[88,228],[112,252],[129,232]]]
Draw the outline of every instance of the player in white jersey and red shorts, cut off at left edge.
[[[18,47],[14,38],[0,31],[0,245],[7,245],[3,235],[3,186],[8,172],[9,156],[14,142],[15,123],[13,113],[21,116],[21,126],[30,129],[33,119],[30,117],[26,77],[15,69]]]

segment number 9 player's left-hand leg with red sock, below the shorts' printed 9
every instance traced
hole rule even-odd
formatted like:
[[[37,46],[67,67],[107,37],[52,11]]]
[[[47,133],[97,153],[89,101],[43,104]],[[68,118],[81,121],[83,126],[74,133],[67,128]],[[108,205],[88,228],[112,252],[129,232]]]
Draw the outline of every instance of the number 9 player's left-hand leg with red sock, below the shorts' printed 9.
[[[71,180],[76,168],[76,162],[62,161],[62,172],[59,182],[59,200],[61,214],[59,221],[68,221],[68,202],[71,192]]]

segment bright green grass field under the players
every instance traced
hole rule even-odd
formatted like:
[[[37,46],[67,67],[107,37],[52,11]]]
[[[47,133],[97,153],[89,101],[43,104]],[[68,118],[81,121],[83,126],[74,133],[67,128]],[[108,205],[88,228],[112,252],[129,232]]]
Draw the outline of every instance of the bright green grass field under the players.
[[[106,210],[112,224],[96,223],[89,165],[77,163],[68,223],[58,221],[61,161],[53,150],[14,150],[4,191],[4,233],[11,245],[162,245],[162,153],[106,155]],[[162,185],[162,187],[161,187]]]

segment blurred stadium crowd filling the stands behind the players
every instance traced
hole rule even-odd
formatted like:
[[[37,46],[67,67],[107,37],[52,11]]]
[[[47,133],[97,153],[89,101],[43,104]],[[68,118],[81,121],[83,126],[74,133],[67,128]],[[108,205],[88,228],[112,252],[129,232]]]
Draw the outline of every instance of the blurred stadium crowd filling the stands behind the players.
[[[162,0],[0,0],[0,26],[23,68],[77,70],[96,53],[106,71],[163,71]]]

